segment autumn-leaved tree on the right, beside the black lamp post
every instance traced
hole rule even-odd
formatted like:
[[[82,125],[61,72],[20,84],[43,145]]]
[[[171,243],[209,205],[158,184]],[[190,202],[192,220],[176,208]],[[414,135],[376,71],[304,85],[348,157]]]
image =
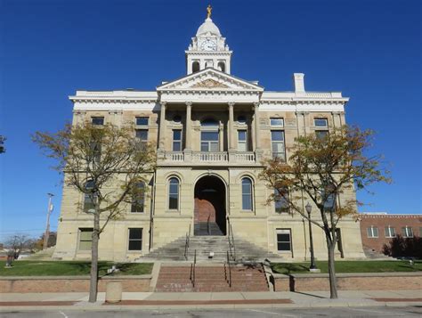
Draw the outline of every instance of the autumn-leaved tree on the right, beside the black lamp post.
[[[380,156],[369,157],[373,132],[343,126],[326,136],[302,135],[296,138],[287,162],[279,159],[264,161],[260,177],[275,191],[269,201],[280,201],[290,211],[310,219],[324,232],[329,258],[330,298],[337,298],[335,248],[337,224],[345,216],[357,218],[362,203],[354,191],[368,190],[372,183],[390,183],[389,172]],[[308,216],[304,200],[312,200],[318,216]]]

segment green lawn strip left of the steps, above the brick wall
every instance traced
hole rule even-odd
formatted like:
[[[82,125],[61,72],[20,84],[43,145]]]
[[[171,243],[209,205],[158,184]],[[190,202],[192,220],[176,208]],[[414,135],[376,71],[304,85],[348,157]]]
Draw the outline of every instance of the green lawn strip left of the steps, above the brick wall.
[[[5,262],[4,262],[5,264]],[[0,276],[66,276],[89,275],[91,263],[82,261],[14,261],[12,268],[0,266]],[[151,273],[152,263],[99,262],[99,275],[107,273],[111,265],[118,265],[114,275],[142,275]]]

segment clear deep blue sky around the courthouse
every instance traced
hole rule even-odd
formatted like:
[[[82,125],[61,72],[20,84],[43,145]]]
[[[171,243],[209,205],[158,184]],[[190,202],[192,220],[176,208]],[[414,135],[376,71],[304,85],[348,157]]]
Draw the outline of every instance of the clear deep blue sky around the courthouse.
[[[0,0],[0,241],[45,228],[61,178],[30,134],[60,129],[77,89],[153,90],[185,72],[206,1]],[[212,1],[234,51],[231,73],[267,90],[342,91],[349,124],[377,131],[394,183],[360,193],[365,211],[421,213],[421,7],[418,1]]]

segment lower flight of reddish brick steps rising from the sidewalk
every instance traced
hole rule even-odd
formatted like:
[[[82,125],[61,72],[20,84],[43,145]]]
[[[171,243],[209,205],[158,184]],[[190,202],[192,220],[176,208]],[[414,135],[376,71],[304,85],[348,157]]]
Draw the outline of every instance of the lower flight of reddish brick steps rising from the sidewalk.
[[[155,291],[269,291],[262,265],[231,265],[231,286],[229,267],[221,265],[196,265],[195,286],[193,286],[192,266],[162,265],[158,274]]]

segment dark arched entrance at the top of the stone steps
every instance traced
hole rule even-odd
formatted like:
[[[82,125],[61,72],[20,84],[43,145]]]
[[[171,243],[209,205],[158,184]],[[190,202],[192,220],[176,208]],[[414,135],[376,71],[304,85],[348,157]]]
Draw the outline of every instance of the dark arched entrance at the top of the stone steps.
[[[195,184],[194,235],[225,235],[225,186],[215,175]]]

